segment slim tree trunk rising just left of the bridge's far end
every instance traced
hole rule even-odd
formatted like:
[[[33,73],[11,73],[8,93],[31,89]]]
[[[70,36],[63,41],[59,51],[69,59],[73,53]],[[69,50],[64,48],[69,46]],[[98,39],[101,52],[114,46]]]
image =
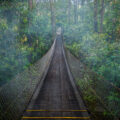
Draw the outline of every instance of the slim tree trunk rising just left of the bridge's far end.
[[[50,11],[51,11],[51,26],[52,26],[52,37],[55,37],[55,13],[54,13],[54,6],[53,0],[50,0]]]

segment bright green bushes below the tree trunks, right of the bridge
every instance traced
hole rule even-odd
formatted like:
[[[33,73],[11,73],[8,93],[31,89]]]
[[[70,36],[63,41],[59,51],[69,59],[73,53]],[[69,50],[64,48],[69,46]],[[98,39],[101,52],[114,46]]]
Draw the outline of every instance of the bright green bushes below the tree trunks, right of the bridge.
[[[85,64],[108,81],[119,87],[120,44],[107,42],[106,34],[87,34],[82,40],[73,42],[68,48],[81,57]]]

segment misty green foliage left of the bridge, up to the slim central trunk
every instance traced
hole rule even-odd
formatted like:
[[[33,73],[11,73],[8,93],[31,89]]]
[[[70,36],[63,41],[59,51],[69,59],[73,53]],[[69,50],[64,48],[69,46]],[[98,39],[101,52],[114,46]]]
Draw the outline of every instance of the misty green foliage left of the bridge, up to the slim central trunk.
[[[50,11],[29,11],[27,2],[5,1],[0,8],[0,85],[40,59],[50,48]]]

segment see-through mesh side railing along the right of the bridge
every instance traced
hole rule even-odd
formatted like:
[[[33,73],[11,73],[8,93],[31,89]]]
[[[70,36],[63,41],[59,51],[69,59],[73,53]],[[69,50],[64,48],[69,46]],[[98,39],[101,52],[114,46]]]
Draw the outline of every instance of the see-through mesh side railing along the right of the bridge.
[[[108,110],[114,116],[114,119],[118,120],[120,118],[120,91],[104,80],[104,78],[86,68],[67,49],[66,57],[72,75],[81,89],[83,97],[87,95],[95,97],[94,111],[104,112],[104,110]]]

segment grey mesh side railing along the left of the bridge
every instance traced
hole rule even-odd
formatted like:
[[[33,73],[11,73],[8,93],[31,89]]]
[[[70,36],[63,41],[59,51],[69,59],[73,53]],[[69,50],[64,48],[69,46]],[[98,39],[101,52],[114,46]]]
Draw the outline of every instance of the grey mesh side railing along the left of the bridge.
[[[0,89],[0,120],[19,120],[52,59],[55,42],[37,63]]]

